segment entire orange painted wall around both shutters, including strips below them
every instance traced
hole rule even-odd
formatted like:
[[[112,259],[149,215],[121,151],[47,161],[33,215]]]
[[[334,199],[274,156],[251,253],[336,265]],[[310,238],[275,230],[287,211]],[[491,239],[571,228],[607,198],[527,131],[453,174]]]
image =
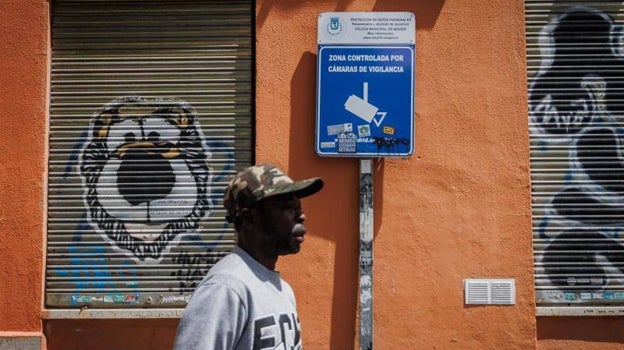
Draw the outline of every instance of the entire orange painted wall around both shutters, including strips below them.
[[[48,2],[0,10],[0,336],[44,332],[48,349],[169,349],[177,320],[41,320]],[[257,159],[326,180],[304,200],[302,252],[278,265],[306,349],[357,343],[357,161],[313,151],[323,11],[417,18],[416,152],[375,162],[376,348],[621,347],[619,318],[535,317],[522,1],[258,0]],[[515,278],[517,304],[466,307],[471,277]]]

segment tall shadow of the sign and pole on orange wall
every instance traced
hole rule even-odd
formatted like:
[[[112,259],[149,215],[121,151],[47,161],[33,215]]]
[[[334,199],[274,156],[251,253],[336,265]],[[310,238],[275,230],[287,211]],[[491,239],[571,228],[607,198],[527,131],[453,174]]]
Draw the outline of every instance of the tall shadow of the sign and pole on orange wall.
[[[316,55],[303,54],[291,80],[290,145],[288,168],[294,178],[322,176],[325,188],[315,200],[321,205],[306,209],[310,217],[330,217],[333,224],[312,230],[335,244],[333,298],[331,311],[331,349],[353,347],[356,327],[359,234],[359,162],[356,158],[321,158],[314,150],[316,128]],[[380,199],[382,182],[373,174],[375,199]],[[345,205],[350,203],[353,205]],[[376,234],[381,220],[381,202],[374,203]],[[318,214],[315,212],[318,211]],[[336,216],[332,216],[333,213]],[[329,229],[327,229],[329,228]]]

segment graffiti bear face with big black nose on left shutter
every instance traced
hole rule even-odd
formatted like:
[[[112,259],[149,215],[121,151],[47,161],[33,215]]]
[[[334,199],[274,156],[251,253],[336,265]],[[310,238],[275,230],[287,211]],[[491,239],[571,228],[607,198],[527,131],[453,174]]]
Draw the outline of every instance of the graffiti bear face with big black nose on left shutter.
[[[117,99],[91,120],[80,167],[92,225],[139,260],[161,259],[209,209],[209,152],[188,104]]]

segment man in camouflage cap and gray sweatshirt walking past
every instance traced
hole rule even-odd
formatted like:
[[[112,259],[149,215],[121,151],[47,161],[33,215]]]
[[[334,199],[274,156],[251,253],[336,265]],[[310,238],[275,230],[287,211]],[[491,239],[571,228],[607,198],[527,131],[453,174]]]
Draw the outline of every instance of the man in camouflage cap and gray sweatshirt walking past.
[[[299,199],[322,187],[320,178],[295,182],[272,164],[234,176],[223,206],[237,246],[195,290],[175,350],[302,348],[295,296],[275,264],[299,252],[306,233]]]

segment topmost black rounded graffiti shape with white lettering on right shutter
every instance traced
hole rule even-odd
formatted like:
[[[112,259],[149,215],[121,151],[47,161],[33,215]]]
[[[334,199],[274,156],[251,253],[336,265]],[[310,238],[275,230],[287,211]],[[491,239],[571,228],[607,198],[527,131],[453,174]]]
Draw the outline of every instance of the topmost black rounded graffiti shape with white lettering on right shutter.
[[[544,59],[529,89],[529,114],[541,132],[573,135],[621,109],[624,60],[615,27],[604,12],[583,6],[546,27],[548,44],[541,49],[550,59]]]

